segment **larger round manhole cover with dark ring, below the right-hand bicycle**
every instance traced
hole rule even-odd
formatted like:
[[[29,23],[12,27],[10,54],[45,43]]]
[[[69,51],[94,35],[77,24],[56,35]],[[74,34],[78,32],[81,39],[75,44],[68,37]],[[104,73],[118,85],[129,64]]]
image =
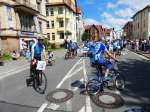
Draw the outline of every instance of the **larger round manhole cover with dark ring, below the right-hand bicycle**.
[[[121,98],[121,96],[108,92],[93,95],[91,96],[91,100],[97,106],[103,108],[119,108],[124,104],[124,100]]]

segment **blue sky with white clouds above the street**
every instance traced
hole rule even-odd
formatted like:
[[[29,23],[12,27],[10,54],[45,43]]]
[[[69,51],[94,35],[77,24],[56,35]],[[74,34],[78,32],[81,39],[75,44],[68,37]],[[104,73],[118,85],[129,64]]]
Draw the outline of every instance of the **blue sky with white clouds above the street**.
[[[85,23],[121,29],[137,11],[150,5],[150,0],[77,0],[77,4]]]

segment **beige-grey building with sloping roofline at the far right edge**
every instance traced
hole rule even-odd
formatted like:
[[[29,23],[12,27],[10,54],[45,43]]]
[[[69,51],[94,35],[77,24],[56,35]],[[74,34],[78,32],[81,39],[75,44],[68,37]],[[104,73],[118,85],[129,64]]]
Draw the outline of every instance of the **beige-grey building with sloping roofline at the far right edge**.
[[[150,6],[138,11],[132,19],[134,39],[148,39],[150,37]]]

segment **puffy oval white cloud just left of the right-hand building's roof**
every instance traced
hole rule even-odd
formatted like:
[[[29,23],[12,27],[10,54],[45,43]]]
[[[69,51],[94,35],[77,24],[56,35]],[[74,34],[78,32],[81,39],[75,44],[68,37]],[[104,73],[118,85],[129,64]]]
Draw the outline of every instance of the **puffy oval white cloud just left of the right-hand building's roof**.
[[[120,17],[131,17],[134,15],[134,13],[134,10],[132,10],[131,8],[125,8],[115,12],[115,14]]]

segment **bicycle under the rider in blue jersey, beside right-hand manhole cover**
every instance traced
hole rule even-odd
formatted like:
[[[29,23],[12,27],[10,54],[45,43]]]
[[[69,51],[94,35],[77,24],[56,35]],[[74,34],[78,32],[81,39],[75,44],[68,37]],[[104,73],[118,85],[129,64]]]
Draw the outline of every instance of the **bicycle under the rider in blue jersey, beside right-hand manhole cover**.
[[[108,87],[110,82],[112,82],[113,86],[115,86],[118,90],[123,90],[125,88],[125,78],[123,75],[120,75],[115,67],[109,72],[107,78],[104,78],[102,66],[96,64],[95,67],[98,74],[96,78],[93,78],[87,82],[86,91],[88,94],[103,92],[104,87]]]

